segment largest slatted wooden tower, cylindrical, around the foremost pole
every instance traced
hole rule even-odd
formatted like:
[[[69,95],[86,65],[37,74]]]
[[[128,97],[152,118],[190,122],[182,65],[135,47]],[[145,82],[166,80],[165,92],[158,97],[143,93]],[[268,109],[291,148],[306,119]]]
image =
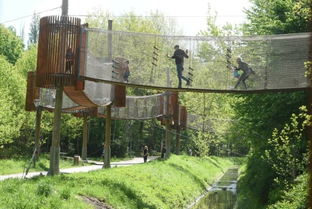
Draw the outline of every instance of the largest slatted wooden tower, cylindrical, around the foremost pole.
[[[55,89],[57,85],[74,86],[78,77],[80,19],[49,16],[40,19],[36,85]],[[69,45],[75,59],[66,72],[66,49]],[[76,79],[76,80],[75,80]],[[84,85],[79,84],[80,87]]]

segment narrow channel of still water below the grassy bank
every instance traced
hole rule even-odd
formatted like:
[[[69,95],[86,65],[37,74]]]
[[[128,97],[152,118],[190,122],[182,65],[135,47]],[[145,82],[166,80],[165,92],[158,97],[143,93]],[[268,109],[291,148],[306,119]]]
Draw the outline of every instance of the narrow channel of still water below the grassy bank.
[[[237,209],[238,167],[229,168],[191,209]]]

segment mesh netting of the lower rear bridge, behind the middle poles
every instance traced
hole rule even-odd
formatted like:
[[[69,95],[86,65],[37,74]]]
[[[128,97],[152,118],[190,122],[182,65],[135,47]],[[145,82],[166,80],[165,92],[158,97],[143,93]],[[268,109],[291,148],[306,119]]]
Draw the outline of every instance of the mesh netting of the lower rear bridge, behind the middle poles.
[[[160,116],[160,100],[165,94],[127,97],[125,107],[111,109],[111,117],[118,119],[150,119]],[[106,115],[106,108],[100,107],[98,113]]]

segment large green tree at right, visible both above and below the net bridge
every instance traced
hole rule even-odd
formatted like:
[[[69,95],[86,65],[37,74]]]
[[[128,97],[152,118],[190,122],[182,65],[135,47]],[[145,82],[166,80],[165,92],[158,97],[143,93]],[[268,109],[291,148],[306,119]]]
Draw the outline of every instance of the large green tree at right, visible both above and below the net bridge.
[[[273,35],[308,31],[311,17],[311,0],[251,0],[251,9],[246,10],[247,22],[243,24],[244,35]],[[308,19],[307,19],[308,18]],[[280,130],[290,123],[292,114],[307,104],[305,91],[292,93],[266,93],[236,95],[235,118],[240,134],[247,137],[251,151],[245,174],[239,181],[239,204],[245,208],[265,206],[274,185],[275,171],[261,156],[269,149],[268,140],[274,128]],[[247,198],[248,197],[248,198]],[[252,201],[249,201],[252,200]]]

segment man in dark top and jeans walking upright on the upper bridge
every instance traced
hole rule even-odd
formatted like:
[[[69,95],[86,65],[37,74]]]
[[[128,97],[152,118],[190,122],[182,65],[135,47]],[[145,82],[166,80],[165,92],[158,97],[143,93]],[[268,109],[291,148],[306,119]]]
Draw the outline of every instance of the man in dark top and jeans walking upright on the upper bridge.
[[[187,78],[185,78],[183,75],[182,75],[182,71],[184,70],[183,68],[183,63],[184,63],[184,58],[188,59],[189,56],[187,55],[188,53],[188,50],[185,49],[185,52],[180,49],[180,46],[179,45],[175,45],[174,47],[175,49],[175,53],[173,56],[169,56],[167,54],[167,57],[168,58],[172,58],[172,59],[175,59],[175,62],[176,62],[176,72],[177,72],[177,78],[179,80],[179,84],[178,84],[178,88],[181,88],[181,85],[182,85],[182,80],[183,79],[184,81],[186,81],[186,85],[191,85],[191,82],[190,80],[188,80]]]

